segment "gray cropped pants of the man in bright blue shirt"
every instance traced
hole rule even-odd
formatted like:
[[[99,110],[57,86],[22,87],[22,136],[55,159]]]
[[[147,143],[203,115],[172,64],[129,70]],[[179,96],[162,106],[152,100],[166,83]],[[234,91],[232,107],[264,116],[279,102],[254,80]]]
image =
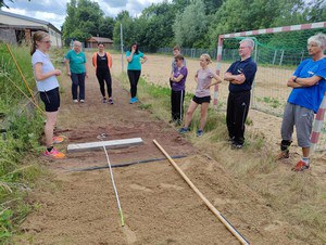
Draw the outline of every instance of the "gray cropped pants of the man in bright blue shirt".
[[[310,136],[314,120],[314,111],[287,103],[283,115],[280,134],[283,140],[292,140],[293,126],[296,125],[298,145],[310,147]]]

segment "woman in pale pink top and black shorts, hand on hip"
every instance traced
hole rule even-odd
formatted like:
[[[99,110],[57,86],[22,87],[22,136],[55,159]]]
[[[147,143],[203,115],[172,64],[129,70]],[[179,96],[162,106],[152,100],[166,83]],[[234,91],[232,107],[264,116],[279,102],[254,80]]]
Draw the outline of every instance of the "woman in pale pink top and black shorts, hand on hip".
[[[179,132],[186,133],[189,131],[189,125],[191,122],[192,114],[196,111],[197,106],[201,105],[200,126],[197,130],[197,136],[202,137],[211,102],[210,88],[214,85],[222,82],[222,79],[209,67],[209,64],[212,63],[211,56],[209,54],[202,54],[199,61],[201,68],[197,70],[195,76],[197,89],[186,114],[185,126],[179,130]],[[213,78],[216,81],[212,82]]]

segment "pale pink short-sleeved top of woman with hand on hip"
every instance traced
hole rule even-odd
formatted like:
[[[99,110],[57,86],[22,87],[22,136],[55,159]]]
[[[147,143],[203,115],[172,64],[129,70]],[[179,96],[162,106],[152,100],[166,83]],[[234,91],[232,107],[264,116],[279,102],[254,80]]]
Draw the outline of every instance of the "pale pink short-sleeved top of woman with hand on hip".
[[[211,96],[210,89],[204,89],[212,82],[212,78],[214,77],[214,72],[211,68],[199,69],[197,70],[197,89],[195,95],[198,98]]]

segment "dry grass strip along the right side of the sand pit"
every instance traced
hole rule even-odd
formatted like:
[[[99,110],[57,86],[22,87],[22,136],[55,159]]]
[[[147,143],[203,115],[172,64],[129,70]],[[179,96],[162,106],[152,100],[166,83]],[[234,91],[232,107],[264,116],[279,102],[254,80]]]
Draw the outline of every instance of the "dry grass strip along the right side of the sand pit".
[[[118,79],[128,88],[125,74]],[[168,121],[170,89],[146,82],[141,79],[138,95],[142,104],[161,120]],[[191,94],[187,94],[185,109],[187,109]],[[278,106],[277,101],[265,99],[265,103]],[[289,168],[284,170],[274,160],[275,145],[267,143],[264,134],[250,129],[252,120],[248,118],[246,125],[246,143],[243,150],[234,151],[226,142],[227,129],[225,112],[210,108],[205,133],[196,137],[199,125],[199,109],[193,115],[191,131],[187,134],[197,147],[210,155],[235,178],[261,194],[275,212],[281,215],[284,222],[291,225],[290,238],[300,240],[306,244],[326,244],[326,185],[323,178],[310,172],[293,172]],[[319,179],[321,178],[321,179]]]

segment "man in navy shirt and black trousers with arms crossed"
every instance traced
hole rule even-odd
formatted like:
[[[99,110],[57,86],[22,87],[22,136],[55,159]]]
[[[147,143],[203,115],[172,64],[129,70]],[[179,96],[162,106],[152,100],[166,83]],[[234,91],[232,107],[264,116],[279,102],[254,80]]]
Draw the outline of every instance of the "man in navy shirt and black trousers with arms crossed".
[[[240,41],[240,61],[234,62],[224,74],[229,81],[226,124],[233,149],[241,149],[244,143],[244,122],[250,105],[250,90],[256,73],[256,64],[251,59],[254,42],[251,38]]]

